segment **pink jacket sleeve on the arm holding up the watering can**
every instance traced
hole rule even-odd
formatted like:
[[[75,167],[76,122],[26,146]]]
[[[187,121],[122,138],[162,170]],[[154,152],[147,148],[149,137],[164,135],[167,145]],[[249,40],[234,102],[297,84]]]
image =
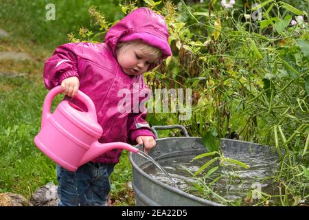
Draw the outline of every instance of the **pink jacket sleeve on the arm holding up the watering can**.
[[[65,78],[80,78],[77,69],[78,56],[82,54],[79,43],[67,43],[56,48],[54,54],[44,65],[44,83],[47,89],[61,85]]]

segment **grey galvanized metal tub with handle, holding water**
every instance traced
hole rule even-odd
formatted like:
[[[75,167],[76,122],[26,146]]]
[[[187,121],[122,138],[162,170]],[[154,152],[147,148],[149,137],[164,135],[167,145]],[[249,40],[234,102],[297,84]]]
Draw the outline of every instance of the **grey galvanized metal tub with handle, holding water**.
[[[169,157],[187,157],[207,152],[201,137],[189,137],[183,126],[152,126],[152,131],[157,136],[155,129],[182,129],[186,137],[166,137],[157,139],[157,146],[148,155],[155,160],[168,159]],[[248,155],[269,154],[274,155],[273,148],[243,142],[239,140],[221,139],[220,147],[227,157],[232,157],[238,153]],[[143,146],[138,145],[142,149]],[[129,153],[130,163],[133,166],[133,190],[135,191],[136,206],[222,206],[220,203],[208,201],[183,192],[178,188],[164,184],[151,177],[141,167],[149,163],[147,159],[135,153]]]

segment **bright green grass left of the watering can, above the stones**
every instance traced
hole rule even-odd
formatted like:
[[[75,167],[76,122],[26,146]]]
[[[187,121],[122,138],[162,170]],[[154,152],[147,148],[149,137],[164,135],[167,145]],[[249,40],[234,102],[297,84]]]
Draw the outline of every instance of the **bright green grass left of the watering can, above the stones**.
[[[33,143],[46,91],[33,76],[0,77],[0,85],[0,190],[30,197],[36,188],[56,180],[54,162]]]

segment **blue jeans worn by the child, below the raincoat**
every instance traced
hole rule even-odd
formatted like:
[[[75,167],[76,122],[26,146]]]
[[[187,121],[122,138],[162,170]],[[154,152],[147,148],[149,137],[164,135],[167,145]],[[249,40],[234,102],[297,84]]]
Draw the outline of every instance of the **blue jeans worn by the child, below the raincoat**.
[[[89,162],[71,172],[57,165],[58,206],[107,206],[114,166]]]

